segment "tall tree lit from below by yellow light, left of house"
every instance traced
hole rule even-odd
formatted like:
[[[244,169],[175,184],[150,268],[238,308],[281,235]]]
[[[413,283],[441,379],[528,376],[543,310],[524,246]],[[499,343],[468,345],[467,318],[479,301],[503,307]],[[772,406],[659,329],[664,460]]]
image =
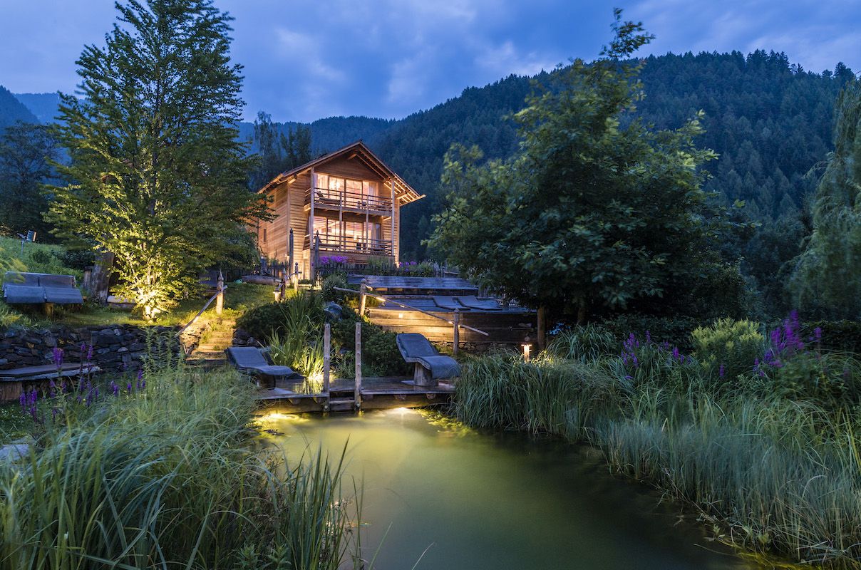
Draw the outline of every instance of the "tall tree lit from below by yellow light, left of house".
[[[106,45],[85,46],[82,98],[62,96],[59,139],[70,183],[54,189],[59,235],[115,254],[118,294],[147,318],[195,288],[197,276],[267,214],[245,189],[250,164],[232,127],[240,67],[230,18],[210,0],[128,0]]]

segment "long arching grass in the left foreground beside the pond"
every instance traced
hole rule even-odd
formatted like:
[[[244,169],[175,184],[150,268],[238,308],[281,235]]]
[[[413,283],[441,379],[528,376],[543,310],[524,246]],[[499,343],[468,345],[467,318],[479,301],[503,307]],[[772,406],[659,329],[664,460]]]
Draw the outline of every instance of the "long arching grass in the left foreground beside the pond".
[[[357,560],[340,462],[288,462],[257,442],[253,410],[235,375],[177,368],[77,424],[49,426],[27,462],[0,465],[0,567],[322,570]]]

